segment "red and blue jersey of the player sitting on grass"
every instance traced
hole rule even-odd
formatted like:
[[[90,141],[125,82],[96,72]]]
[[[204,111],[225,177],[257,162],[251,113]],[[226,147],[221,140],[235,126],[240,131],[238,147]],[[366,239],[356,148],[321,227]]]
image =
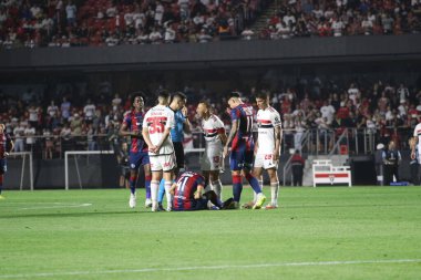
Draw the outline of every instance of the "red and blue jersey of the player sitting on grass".
[[[194,172],[185,172],[179,175],[177,187],[174,191],[173,209],[175,210],[191,210],[196,207],[194,193],[196,193],[199,185],[205,187],[205,178]]]

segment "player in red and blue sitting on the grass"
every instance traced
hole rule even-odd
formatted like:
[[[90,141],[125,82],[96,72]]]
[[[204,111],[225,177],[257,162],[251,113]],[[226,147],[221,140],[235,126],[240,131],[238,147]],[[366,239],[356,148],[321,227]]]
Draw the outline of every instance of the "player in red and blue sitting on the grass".
[[[198,173],[185,172],[171,187],[173,195],[173,211],[193,211],[210,209],[214,205],[216,209],[226,209],[233,203],[233,198],[224,204],[217,199],[215,191],[205,191],[206,182]],[[209,201],[212,205],[209,205]]]

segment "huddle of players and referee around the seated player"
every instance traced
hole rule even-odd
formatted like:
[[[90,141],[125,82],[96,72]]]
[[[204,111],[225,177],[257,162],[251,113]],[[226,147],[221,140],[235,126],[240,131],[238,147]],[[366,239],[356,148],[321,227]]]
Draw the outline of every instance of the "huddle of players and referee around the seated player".
[[[176,92],[172,96],[161,91],[157,105],[144,112],[143,96],[134,96],[133,110],[125,114],[120,129],[121,136],[131,137],[129,206],[136,206],[137,170],[145,174],[145,206],[152,211],[164,210],[162,200],[166,196],[166,211],[201,209],[238,209],[246,178],[255,198],[245,208],[260,209],[266,200],[263,194],[263,170],[270,178],[271,200],[266,209],[278,207],[279,182],[277,167],[280,155],[281,121],[279,113],[269,105],[264,93],[256,95],[258,137],[255,143],[253,125],[255,114],[251,105],[244,103],[238,92],[227,96],[232,128],[228,136],[224,123],[212,113],[210,105],[199,102],[196,108],[202,121],[206,141],[202,157],[202,174],[184,172],[183,133],[189,129],[186,96]],[[233,177],[233,197],[222,203],[219,173],[224,158],[229,155]]]

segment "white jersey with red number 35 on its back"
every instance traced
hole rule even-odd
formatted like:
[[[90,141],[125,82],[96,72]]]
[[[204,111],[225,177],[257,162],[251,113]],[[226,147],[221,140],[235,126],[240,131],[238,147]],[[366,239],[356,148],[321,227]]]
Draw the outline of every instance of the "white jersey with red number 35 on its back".
[[[156,105],[147,111],[143,118],[143,127],[147,127],[150,132],[150,138],[152,144],[157,145],[163,135],[165,128],[174,128],[174,112],[163,105]],[[165,139],[160,149],[160,155],[170,155],[174,153],[173,142],[171,135]],[[150,152],[150,155],[155,155]]]

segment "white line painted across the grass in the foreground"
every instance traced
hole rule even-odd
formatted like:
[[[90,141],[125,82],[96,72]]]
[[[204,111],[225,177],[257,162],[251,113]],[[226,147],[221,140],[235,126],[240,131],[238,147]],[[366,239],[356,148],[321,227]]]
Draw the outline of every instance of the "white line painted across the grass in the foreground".
[[[304,262],[278,262],[259,265],[225,265],[225,266],[203,266],[203,267],[178,267],[178,268],[143,268],[143,269],[120,269],[120,270],[85,270],[85,271],[58,271],[23,274],[3,274],[0,279],[14,278],[48,278],[65,276],[104,276],[115,273],[146,273],[166,271],[194,271],[194,270],[220,270],[220,269],[255,269],[273,267],[310,267],[310,266],[346,266],[346,265],[384,265],[384,263],[415,263],[421,259],[397,259],[397,260],[343,260],[343,261],[304,261]]]

